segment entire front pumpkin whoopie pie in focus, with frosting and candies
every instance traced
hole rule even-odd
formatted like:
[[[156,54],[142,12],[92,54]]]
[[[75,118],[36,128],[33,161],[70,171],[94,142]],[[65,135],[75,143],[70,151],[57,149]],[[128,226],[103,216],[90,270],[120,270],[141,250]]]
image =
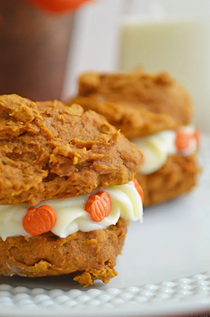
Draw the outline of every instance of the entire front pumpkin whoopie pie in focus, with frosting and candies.
[[[0,96],[0,275],[117,275],[141,151],[94,111]]]

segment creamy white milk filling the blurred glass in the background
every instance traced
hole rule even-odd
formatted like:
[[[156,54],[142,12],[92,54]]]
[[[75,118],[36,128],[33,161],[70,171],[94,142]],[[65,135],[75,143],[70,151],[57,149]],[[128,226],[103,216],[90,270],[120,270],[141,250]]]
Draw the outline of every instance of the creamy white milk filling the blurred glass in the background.
[[[210,132],[210,22],[194,19],[140,21],[121,27],[120,70],[167,70],[192,95],[195,124]]]

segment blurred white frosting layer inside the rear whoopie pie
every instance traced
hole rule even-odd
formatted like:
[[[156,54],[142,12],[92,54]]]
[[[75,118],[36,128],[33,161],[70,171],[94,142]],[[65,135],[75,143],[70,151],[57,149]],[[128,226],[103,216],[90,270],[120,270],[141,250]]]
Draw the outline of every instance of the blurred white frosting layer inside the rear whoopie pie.
[[[195,128],[193,126],[183,126],[179,128],[179,131],[193,134]],[[142,174],[149,175],[158,171],[166,163],[169,155],[179,153],[188,156],[195,152],[197,149],[195,138],[190,140],[187,149],[178,152],[175,145],[176,133],[174,130],[167,130],[131,140],[144,153],[144,163],[140,169]]]

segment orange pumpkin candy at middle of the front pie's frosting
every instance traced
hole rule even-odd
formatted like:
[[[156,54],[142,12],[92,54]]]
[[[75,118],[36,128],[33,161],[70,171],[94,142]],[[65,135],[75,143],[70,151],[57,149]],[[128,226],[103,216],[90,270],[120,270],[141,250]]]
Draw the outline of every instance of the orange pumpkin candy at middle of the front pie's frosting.
[[[111,198],[105,191],[98,192],[95,195],[90,195],[85,211],[91,214],[93,221],[100,222],[111,212]]]

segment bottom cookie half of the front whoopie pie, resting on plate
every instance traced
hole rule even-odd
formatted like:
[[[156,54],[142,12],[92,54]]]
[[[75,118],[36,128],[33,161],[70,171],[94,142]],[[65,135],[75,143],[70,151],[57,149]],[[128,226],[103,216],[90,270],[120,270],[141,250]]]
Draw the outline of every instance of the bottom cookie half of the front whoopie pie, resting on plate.
[[[75,273],[84,287],[94,280],[105,284],[117,275],[114,269],[124,244],[128,221],[120,218],[105,230],[78,231],[67,238],[51,232],[31,238],[0,238],[0,275],[39,277]]]

